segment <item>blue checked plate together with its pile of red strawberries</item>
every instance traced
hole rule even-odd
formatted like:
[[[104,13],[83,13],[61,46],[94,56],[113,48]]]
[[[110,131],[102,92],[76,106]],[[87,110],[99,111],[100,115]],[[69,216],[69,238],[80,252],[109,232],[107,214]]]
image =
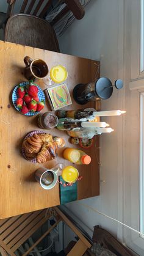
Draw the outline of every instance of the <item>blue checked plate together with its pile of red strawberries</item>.
[[[45,106],[45,94],[34,82],[21,82],[12,92],[12,102],[23,115],[38,114]]]

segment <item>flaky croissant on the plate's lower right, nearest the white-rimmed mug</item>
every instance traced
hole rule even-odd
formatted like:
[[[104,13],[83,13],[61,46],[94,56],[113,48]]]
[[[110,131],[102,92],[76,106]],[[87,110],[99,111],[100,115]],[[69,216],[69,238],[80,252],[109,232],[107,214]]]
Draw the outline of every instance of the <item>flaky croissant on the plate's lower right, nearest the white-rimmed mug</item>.
[[[44,144],[41,148],[40,152],[37,154],[37,163],[45,163],[47,161],[51,161],[57,156],[57,143],[49,142],[48,144]]]

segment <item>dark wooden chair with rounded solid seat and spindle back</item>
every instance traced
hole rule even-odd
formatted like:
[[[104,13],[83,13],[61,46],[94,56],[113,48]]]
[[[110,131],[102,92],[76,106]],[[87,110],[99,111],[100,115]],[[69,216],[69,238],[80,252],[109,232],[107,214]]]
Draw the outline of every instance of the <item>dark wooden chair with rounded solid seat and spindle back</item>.
[[[80,20],[84,16],[84,9],[79,0],[63,0],[66,4],[65,8],[49,24],[43,18],[45,18],[52,0],[47,1],[42,10],[41,5],[43,4],[43,0],[39,0],[36,7],[34,7],[35,1],[24,0],[20,13],[13,15],[13,7],[16,0],[7,0],[9,5],[5,19],[4,40],[19,43],[20,45],[59,52],[59,43],[52,25],[56,24],[70,10]]]

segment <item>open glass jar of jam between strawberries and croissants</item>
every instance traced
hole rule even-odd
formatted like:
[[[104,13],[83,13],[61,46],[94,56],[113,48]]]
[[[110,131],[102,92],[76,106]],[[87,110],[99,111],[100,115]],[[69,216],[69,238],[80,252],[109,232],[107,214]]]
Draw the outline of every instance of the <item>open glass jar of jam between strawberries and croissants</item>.
[[[45,112],[38,115],[38,126],[43,129],[52,129],[57,126],[59,120],[56,115]]]

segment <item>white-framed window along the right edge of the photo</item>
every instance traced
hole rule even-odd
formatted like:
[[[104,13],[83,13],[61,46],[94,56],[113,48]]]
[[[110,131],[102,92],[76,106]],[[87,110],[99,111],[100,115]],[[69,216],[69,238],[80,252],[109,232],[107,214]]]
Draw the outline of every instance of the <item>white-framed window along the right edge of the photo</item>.
[[[131,4],[131,75],[129,95],[131,104],[131,147],[129,147],[131,184],[125,202],[129,203],[129,216],[125,223],[144,233],[144,0]],[[127,45],[128,47],[128,45]],[[127,177],[128,182],[128,177]],[[126,211],[127,213],[127,211]],[[130,218],[130,220],[129,220]],[[126,230],[126,244],[139,255],[144,255],[144,236]]]

